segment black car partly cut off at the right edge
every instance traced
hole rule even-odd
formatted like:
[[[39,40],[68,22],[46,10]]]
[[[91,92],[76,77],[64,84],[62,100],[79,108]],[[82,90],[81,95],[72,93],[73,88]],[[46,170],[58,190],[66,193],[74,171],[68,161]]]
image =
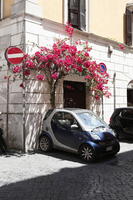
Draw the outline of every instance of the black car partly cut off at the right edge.
[[[116,108],[111,115],[109,126],[119,139],[133,139],[133,107]]]

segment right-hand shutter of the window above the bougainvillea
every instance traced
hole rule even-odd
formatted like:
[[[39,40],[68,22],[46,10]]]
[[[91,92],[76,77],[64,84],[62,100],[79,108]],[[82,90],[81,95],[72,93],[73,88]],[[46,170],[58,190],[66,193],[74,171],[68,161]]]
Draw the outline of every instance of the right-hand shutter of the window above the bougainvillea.
[[[80,0],[80,29],[86,30],[86,1]]]

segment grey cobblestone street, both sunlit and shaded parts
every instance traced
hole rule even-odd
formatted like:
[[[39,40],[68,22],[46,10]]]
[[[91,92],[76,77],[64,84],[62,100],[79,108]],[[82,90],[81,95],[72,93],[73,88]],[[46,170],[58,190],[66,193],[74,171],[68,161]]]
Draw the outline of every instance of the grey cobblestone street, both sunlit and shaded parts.
[[[90,199],[133,199],[133,143],[93,164],[60,151],[0,157],[0,200]]]

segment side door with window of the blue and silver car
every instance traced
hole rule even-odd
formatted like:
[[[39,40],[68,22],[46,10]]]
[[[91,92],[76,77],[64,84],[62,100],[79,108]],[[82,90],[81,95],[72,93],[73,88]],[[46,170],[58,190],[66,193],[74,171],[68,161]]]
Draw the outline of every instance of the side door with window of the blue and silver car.
[[[67,147],[77,149],[83,140],[82,129],[74,116],[67,112],[57,112],[51,121],[55,138]]]

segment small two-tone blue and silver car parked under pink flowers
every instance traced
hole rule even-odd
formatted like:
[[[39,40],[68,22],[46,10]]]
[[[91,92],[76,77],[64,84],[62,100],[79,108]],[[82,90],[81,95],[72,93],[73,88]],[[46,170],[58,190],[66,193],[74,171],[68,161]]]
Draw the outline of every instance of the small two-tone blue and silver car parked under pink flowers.
[[[92,111],[65,108],[46,113],[39,148],[44,152],[52,148],[70,151],[91,162],[117,154],[120,145],[113,130]]]

